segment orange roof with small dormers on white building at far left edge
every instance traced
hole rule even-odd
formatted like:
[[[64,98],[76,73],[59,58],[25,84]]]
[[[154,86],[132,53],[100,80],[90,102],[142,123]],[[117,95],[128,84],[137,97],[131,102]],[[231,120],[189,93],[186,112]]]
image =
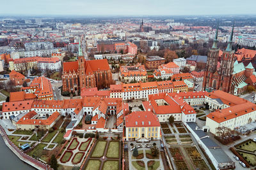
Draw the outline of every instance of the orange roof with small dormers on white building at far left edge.
[[[3,103],[2,111],[31,110],[33,101],[13,101]]]

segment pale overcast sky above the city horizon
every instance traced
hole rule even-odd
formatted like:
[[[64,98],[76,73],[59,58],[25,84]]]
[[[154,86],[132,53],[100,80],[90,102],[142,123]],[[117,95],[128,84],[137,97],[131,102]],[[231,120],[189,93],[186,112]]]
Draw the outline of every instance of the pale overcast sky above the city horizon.
[[[0,0],[0,4],[0,15],[256,14],[256,0]]]

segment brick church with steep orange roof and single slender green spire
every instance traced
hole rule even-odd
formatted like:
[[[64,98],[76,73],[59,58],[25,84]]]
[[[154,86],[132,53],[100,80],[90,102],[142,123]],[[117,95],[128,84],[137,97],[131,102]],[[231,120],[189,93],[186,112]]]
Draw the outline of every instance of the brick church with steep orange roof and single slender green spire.
[[[63,62],[62,83],[63,91],[76,94],[82,88],[110,87],[113,80],[108,60],[85,60],[80,47],[78,60]]]

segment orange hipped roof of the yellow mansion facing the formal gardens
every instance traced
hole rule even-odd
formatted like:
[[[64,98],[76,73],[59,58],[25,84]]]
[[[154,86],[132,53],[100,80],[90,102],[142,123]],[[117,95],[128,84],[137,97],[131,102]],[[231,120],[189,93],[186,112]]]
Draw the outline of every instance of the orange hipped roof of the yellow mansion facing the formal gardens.
[[[151,111],[134,111],[125,116],[126,127],[160,127],[157,116]]]

